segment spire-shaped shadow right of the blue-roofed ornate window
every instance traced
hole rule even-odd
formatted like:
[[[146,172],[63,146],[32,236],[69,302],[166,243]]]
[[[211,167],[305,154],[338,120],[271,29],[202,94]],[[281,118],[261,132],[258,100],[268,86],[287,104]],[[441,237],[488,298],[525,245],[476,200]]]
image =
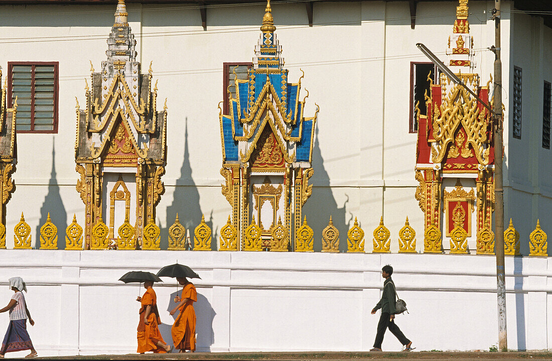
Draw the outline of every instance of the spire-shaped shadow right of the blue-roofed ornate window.
[[[310,181],[316,179],[316,186],[312,187],[312,195],[303,207],[303,218],[307,217],[307,223],[314,231],[314,251],[322,250],[322,230],[327,227],[332,216],[333,225],[339,231],[339,250],[347,251],[347,231],[351,225],[352,214],[347,216],[346,205],[349,201],[338,206],[333,197],[332,189],[330,188],[330,176],[324,168],[324,160],[320,152],[320,143],[318,141],[318,127],[315,130],[316,137],[312,146],[312,168],[314,175]]]

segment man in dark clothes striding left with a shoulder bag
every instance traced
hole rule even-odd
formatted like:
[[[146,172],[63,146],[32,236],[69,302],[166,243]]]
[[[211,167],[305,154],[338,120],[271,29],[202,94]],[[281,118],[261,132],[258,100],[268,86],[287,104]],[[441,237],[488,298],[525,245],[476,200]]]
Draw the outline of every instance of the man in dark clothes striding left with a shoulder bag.
[[[378,333],[376,334],[376,340],[374,341],[374,348],[370,351],[381,351],[381,342],[383,342],[383,336],[385,334],[386,328],[389,327],[389,331],[395,337],[397,337],[400,343],[405,346],[404,351],[411,351],[414,349],[412,347],[412,341],[408,340],[402,331],[399,329],[399,326],[395,325],[395,284],[391,279],[391,274],[393,274],[393,267],[390,265],[383,266],[381,268],[381,277],[385,278],[383,283],[383,294],[378,304],[372,310],[374,315],[377,310],[381,309],[380,321],[378,323]]]

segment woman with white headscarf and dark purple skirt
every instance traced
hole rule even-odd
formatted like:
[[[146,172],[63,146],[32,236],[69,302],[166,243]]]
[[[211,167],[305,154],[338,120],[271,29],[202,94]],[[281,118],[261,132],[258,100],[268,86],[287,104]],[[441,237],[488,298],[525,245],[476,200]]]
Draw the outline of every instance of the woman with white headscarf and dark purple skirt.
[[[22,292],[27,292],[27,287],[21,277],[10,278],[9,287],[13,290],[14,295],[8,305],[0,310],[0,313],[9,311],[8,331],[6,332],[6,336],[4,336],[2,348],[0,348],[0,358],[3,358],[6,352],[29,349],[31,353],[25,357],[35,357],[37,353],[33,347],[33,342],[31,342],[29,333],[27,332],[27,319],[29,319],[31,326],[34,326],[34,321],[31,318],[31,314],[25,302],[25,296]]]

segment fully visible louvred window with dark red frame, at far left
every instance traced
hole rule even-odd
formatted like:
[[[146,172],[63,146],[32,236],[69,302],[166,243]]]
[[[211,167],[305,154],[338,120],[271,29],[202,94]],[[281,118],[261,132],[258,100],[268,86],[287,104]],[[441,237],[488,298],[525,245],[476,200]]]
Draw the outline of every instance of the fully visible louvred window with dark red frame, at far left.
[[[57,133],[57,62],[8,63],[9,99],[17,97],[19,133]]]

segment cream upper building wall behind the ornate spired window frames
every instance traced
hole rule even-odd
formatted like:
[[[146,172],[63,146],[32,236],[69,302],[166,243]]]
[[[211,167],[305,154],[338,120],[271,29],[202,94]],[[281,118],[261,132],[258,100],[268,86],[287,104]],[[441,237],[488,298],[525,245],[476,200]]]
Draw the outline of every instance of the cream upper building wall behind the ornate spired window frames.
[[[273,8],[285,67],[290,69],[290,82],[299,79],[300,68],[305,71],[302,87],[310,93],[305,114],[314,115],[314,103],[321,109],[313,149],[315,172],[310,180],[314,192],[304,209],[315,230],[315,244],[320,242],[321,230],[326,227],[330,214],[334,221],[335,217],[343,219],[340,226],[336,224],[342,244],[346,240],[346,224],[352,224],[354,217],[358,217],[367,234],[367,250],[370,250],[371,233],[382,214],[392,238],[408,215],[421,239],[423,213],[413,196],[417,186],[413,171],[416,134],[408,133],[410,62],[427,61],[415,47],[416,42],[423,42],[445,58],[444,34],[450,32],[454,22],[455,6],[454,2],[419,3],[415,29],[410,28],[407,2],[317,2],[312,28],[305,25],[306,13],[301,4],[278,4]],[[485,48],[493,44],[494,39],[493,25],[485,19],[489,17],[493,2],[473,1],[469,6],[471,34],[475,46],[482,49],[476,54],[476,71],[481,73],[481,82],[485,84],[493,62],[492,53]],[[166,174],[162,178],[166,192],[157,207],[157,219],[162,228],[168,228],[176,211],[181,220],[182,212],[189,212],[193,213],[195,227],[201,213],[210,219],[212,211],[215,235],[230,213],[230,205],[220,193],[220,184],[224,181],[219,174],[221,147],[217,104],[223,99],[220,69],[225,61],[251,60],[264,6],[209,8],[207,31],[201,28],[198,9],[174,9],[167,5],[167,10],[153,11],[160,7],[163,5],[128,5],[129,24],[136,34],[142,72],[147,72],[153,61],[154,80],[158,80],[158,109],[168,98],[168,157]],[[544,66],[550,63],[552,52],[552,37],[547,36],[550,29],[542,24],[533,25],[533,28],[523,25],[538,20],[516,14],[519,24],[523,24],[516,25],[519,30],[511,30],[509,2],[503,2],[502,7],[505,10],[502,14],[505,83],[511,78],[510,57],[520,61],[534,58],[527,57],[523,49],[530,45],[524,40],[527,31],[533,31],[535,26],[541,34],[541,73],[550,73]],[[84,79],[89,80],[89,61],[98,69],[105,58],[105,39],[113,24],[114,9],[112,6],[2,6],[0,9],[2,14],[9,15],[3,17],[0,24],[4,38],[45,38],[2,44],[0,64],[4,77],[7,77],[8,61],[60,62],[59,132],[18,134],[18,165],[13,176],[17,190],[8,203],[7,212],[9,245],[11,231],[19,222],[21,211],[28,222],[35,222],[31,224],[33,238],[36,238],[36,225],[40,219],[45,219],[45,212],[49,210],[55,223],[54,214],[65,217],[57,221],[58,227],[71,223],[73,213],[82,224],[84,205],[74,188],[78,177],[73,161],[75,96],[81,107],[84,106]],[[166,36],[158,36],[160,33]],[[62,41],[47,38],[51,36],[63,38]],[[87,37],[73,39],[78,36]],[[524,65],[523,69],[525,97],[532,94],[532,88],[527,88],[526,84],[533,80],[529,76],[529,66]],[[542,102],[539,100],[542,99],[542,79],[537,83],[538,89],[535,89],[541,95],[533,97],[533,101]],[[507,119],[511,86],[509,84],[507,94],[503,94]],[[542,124],[542,104],[533,107],[525,100],[524,126],[530,123],[526,119],[532,117],[526,117],[525,112],[532,108],[538,128]],[[508,126],[505,132],[510,134]],[[542,129],[534,139],[527,139],[525,136],[530,132],[523,130],[522,142],[532,144],[532,152],[540,147],[541,132]],[[510,143],[514,148],[508,148]],[[552,213],[546,211],[550,208],[552,181],[546,174],[552,162],[547,156],[550,150],[541,147],[538,171],[532,165],[529,172],[527,167],[532,163],[529,155],[524,155],[531,154],[526,150],[528,144],[517,146],[516,143],[519,141],[505,139],[505,214],[508,219],[514,218],[522,239],[527,239],[537,218],[545,231],[549,231],[544,224],[552,220]],[[55,175],[52,176],[54,167]],[[532,176],[533,182],[536,179],[540,182],[537,193],[527,183],[529,173],[536,174]],[[510,187],[529,192],[529,198],[509,196]],[[59,196],[46,198],[49,189],[54,193],[57,189]],[[519,198],[521,203],[508,203],[513,198]],[[535,199],[529,201],[531,198]],[[530,211],[532,204],[537,204],[535,202],[539,206],[533,208],[538,211]],[[524,212],[517,212],[520,204]],[[532,218],[525,220],[521,213],[532,213]],[[63,235],[62,229],[59,232]],[[163,242],[166,243],[166,239]]]

